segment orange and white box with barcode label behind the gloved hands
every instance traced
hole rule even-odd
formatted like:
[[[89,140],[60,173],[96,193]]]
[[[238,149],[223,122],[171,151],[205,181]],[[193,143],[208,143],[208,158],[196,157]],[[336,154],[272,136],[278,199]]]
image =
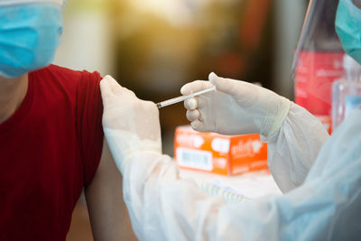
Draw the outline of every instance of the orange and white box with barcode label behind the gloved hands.
[[[190,125],[176,128],[174,158],[182,169],[222,175],[268,170],[267,144],[259,134],[199,133]]]

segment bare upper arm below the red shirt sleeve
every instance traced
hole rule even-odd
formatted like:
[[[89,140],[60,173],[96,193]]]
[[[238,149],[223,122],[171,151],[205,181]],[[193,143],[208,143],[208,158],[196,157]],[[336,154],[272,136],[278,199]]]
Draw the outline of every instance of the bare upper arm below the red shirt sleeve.
[[[136,240],[123,200],[123,179],[104,139],[93,181],[85,189],[94,240]]]

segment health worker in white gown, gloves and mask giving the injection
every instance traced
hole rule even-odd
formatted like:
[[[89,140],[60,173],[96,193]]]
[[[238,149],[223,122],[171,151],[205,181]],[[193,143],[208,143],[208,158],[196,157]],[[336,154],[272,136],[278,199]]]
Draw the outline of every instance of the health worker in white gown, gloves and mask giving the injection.
[[[361,63],[361,9],[340,0],[337,32]],[[180,177],[162,154],[158,109],[106,76],[100,82],[106,140],[140,240],[357,240],[361,236],[361,110],[331,136],[304,108],[272,91],[216,74],[183,86],[193,129],[262,135],[283,195],[227,202]],[[120,105],[120,103],[122,105]],[[200,185],[201,186],[201,185]]]

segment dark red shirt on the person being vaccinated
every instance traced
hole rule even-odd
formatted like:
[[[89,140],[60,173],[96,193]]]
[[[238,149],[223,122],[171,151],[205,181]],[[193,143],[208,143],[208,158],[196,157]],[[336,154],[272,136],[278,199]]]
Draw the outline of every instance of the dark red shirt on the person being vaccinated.
[[[29,74],[0,124],[0,240],[65,240],[102,153],[100,79],[55,65]]]

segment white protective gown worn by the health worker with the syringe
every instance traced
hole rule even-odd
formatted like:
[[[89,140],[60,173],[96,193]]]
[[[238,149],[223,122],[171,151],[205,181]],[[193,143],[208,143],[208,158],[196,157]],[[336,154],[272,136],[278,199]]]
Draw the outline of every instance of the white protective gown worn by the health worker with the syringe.
[[[180,178],[167,155],[125,166],[124,197],[140,240],[360,240],[361,111],[329,137],[292,103],[267,140],[268,164],[284,193],[227,203]]]

